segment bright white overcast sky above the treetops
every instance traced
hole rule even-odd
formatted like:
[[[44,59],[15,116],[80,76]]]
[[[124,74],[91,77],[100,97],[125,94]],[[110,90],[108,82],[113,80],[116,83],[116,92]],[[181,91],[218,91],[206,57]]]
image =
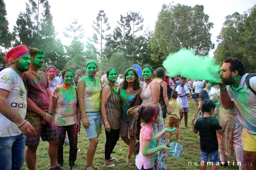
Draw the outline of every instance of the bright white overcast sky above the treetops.
[[[155,22],[161,11],[162,4],[169,4],[172,1],[167,0],[48,0],[51,6],[50,12],[53,16],[53,25],[57,38],[62,41],[64,45],[70,45],[72,39],[65,38],[63,31],[65,27],[73,21],[73,18],[78,19],[78,24],[82,24],[84,29],[84,38],[81,41],[86,44],[87,37],[95,33],[92,28],[93,21],[99,10],[104,10],[108,17],[111,30],[117,26],[117,21],[120,19],[120,14],[125,16],[127,12],[140,12],[144,18],[143,30],[149,28],[154,30]],[[28,0],[4,0],[7,11],[7,19],[9,21],[9,29],[12,32],[16,25],[16,20],[20,12],[26,11],[25,2]],[[204,13],[209,15],[209,21],[213,22],[213,28],[210,30],[212,34],[211,40],[217,47],[217,36],[219,35],[225,17],[234,12],[244,13],[249,8],[256,4],[255,0],[176,0],[174,4],[184,4],[188,6],[195,6],[197,4],[204,6]],[[139,34],[143,34],[140,32]],[[213,56],[214,50],[210,51],[209,55]]]

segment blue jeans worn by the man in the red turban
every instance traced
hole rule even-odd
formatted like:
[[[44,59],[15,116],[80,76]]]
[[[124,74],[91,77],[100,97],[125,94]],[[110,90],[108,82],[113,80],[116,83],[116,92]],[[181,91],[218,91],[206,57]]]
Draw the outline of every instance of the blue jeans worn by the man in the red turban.
[[[0,169],[20,170],[25,160],[25,136],[23,134],[0,137]]]

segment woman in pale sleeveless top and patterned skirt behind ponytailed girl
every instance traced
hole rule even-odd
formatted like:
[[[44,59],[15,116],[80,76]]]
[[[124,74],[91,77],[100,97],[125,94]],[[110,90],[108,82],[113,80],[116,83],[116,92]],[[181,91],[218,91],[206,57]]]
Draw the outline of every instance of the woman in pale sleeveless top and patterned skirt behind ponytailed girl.
[[[146,80],[146,84],[143,85],[142,92],[140,94],[140,98],[142,99],[142,104],[156,104],[159,107],[159,120],[157,123],[153,124],[152,128],[155,135],[159,134],[164,127],[164,119],[162,117],[162,110],[159,104],[159,94],[160,94],[160,86],[156,80],[152,79],[153,68],[151,66],[144,66],[142,70],[142,76]],[[128,110],[133,115],[138,115],[138,108],[140,106],[132,107]],[[156,147],[164,145],[166,146],[166,136],[165,134],[161,136],[159,141],[156,141]],[[155,153],[154,160],[154,169],[155,170],[166,170],[166,153],[163,150],[160,150]]]

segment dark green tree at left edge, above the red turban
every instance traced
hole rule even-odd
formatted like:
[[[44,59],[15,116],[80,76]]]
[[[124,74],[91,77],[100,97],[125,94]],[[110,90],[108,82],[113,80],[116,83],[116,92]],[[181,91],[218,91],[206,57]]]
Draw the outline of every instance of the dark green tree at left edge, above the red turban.
[[[8,25],[5,3],[0,0],[0,46],[5,49],[11,47],[11,41],[13,40],[13,35],[9,32]]]

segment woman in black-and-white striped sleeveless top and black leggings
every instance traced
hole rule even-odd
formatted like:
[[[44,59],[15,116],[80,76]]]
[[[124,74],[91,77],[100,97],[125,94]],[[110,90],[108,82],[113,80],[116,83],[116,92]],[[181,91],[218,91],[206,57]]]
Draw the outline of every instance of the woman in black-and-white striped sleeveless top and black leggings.
[[[108,82],[102,87],[101,94],[101,124],[105,126],[106,144],[105,144],[105,163],[103,166],[118,168],[110,160],[116,160],[110,157],[120,136],[120,118],[121,118],[121,97],[114,87],[117,80],[117,70],[110,68],[107,70]]]

